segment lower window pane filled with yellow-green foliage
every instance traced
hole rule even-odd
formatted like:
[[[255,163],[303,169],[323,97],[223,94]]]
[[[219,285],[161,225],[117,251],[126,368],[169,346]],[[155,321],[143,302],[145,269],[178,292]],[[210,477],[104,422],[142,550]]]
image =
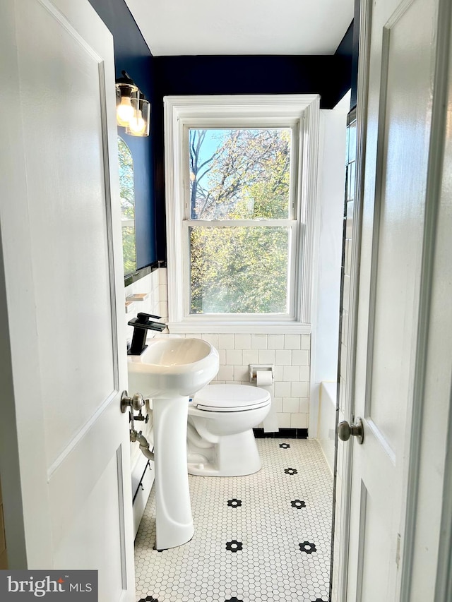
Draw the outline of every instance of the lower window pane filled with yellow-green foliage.
[[[189,228],[190,313],[287,313],[287,227]]]

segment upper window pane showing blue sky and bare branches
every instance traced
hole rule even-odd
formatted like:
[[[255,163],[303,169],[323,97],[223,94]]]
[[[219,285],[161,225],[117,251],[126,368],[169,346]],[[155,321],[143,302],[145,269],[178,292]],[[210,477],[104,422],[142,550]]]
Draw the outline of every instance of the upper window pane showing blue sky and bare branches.
[[[291,134],[190,129],[190,219],[287,219]]]

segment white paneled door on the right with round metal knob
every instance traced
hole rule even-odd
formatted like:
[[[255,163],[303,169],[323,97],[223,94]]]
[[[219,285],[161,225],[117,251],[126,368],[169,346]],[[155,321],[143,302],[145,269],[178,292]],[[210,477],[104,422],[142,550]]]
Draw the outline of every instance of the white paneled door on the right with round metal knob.
[[[422,493],[416,457],[436,227],[435,154],[444,140],[441,128],[431,139],[444,112],[436,100],[436,53],[444,42],[438,42],[438,11],[441,6],[445,14],[447,3],[362,2],[362,26],[368,29],[360,49],[361,92],[369,87],[368,98],[361,96],[367,120],[352,418],[363,420],[364,443],[338,443],[353,446],[347,602],[435,599],[435,575],[425,562],[418,563],[417,580],[424,578],[427,597],[419,589],[410,594],[410,583],[413,548],[427,543],[415,536]],[[444,419],[449,385],[445,381],[439,399]],[[440,512],[429,519],[432,530],[439,530]]]

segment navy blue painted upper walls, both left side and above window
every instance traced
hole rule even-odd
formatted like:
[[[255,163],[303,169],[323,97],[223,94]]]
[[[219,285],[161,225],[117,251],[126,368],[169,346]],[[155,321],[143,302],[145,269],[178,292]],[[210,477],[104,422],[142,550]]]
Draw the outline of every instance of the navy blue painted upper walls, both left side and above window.
[[[151,102],[149,138],[119,129],[135,167],[138,267],[166,259],[163,97],[317,93],[331,109],[350,89],[352,26],[332,56],[153,57],[124,0],[90,2],[113,34],[117,77],[125,69]]]

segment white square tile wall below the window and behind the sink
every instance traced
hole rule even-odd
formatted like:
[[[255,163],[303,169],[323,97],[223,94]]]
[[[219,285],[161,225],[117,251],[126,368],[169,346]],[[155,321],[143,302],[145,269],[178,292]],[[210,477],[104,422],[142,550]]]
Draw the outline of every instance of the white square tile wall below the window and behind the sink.
[[[126,314],[129,322],[139,311],[167,320],[167,270],[160,267],[126,287],[126,296],[147,293]],[[133,329],[127,327],[127,337]],[[275,405],[280,428],[307,428],[309,423],[310,335],[186,335],[202,338],[218,349],[220,370],[213,384],[249,385],[249,364],[273,364]]]

